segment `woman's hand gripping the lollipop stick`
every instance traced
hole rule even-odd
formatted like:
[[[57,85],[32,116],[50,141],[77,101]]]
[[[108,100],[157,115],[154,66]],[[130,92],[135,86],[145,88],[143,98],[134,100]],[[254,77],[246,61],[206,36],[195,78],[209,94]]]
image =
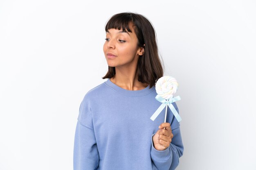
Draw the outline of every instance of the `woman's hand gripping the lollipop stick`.
[[[165,128],[165,129],[164,129]],[[170,146],[173,138],[170,123],[162,123],[159,126],[159,130],[153,136],[153,144],[156,150],[165,150]]]

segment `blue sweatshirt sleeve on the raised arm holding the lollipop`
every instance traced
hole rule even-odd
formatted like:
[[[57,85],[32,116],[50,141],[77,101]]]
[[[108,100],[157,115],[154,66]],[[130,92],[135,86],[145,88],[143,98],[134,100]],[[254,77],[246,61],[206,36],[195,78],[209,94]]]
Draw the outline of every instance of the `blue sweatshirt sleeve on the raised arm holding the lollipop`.
[[[179,113],[175,102],[173,103],[173,106]],[[157,170],[174,170],[179,165],[179,159],[183,155],[184,147],[180,133],[180,123],[177,122],[174,116],[171,122],[171,129],[173,133],[172,142],[170,143],[170,146],[165,150],[155,149],[153,145],[153,136],[155,133],[151,137],[150,155],[153,166],[155,166]]]

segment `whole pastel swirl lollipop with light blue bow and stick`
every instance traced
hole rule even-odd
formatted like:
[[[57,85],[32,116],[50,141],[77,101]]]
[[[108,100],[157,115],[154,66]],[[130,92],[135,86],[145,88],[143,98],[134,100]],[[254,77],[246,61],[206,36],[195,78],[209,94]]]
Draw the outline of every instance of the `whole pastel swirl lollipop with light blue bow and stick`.
[[[176,102],[180,100],[180,96],[173,97],[173,94],[177,92],[178,89],[178,83],[175,78],[171,76],[163,76],[157,80],[157,83],[155,84],[155,90],[157,92],[157,96],[155,96],[155,99],[159,102],[162,102],[162,105],[159,106],[159,108],[155,111],[155,113],[151,116],[151,120],[155,120],[157,116],[160,114],[160,112],[166,107],[165,109],[165,118],[164,122],[166,122],[166,115],[167,115],[167,106],[171,109],[173,112],[173,115],[177,119],[178,122],[181,121],[181,117],[179,113],[176,111],[176,109],[173,106],[173,102]]]

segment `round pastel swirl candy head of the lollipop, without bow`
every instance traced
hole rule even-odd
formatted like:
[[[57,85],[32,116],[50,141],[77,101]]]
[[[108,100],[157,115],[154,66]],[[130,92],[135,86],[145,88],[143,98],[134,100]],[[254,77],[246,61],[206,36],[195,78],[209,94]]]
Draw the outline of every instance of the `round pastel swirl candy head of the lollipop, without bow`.
[[[155,90],[159,96],[164,99],[173,98],[173,94],[177,92],[179,84],[176,79],[171,76],[163,76],[158,79],[155,84]]]

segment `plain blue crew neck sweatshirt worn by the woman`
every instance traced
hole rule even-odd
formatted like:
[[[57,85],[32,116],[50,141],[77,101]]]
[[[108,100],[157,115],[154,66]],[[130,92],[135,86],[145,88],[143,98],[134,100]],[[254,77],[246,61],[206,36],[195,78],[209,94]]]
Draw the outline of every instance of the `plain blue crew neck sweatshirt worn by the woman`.
[[[163,109],[150,119],[162,104],[156,95],[155,86],[132,91],[110,79],[88,91],[76,124],[74,170],[174,170],[183,155],[180,124],[168,108],[172,142],[156,150],[152,138],[165,118]]]

